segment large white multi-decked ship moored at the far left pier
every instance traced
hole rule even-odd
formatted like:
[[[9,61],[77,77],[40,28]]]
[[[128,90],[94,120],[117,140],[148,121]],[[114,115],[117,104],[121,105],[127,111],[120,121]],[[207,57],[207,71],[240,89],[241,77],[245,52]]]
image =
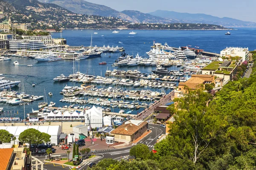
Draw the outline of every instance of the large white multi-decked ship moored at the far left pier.
[[[38,40],[10,40],[10,51],[15,52],[22,50],[39,50],[48,48],[42,41]]]

